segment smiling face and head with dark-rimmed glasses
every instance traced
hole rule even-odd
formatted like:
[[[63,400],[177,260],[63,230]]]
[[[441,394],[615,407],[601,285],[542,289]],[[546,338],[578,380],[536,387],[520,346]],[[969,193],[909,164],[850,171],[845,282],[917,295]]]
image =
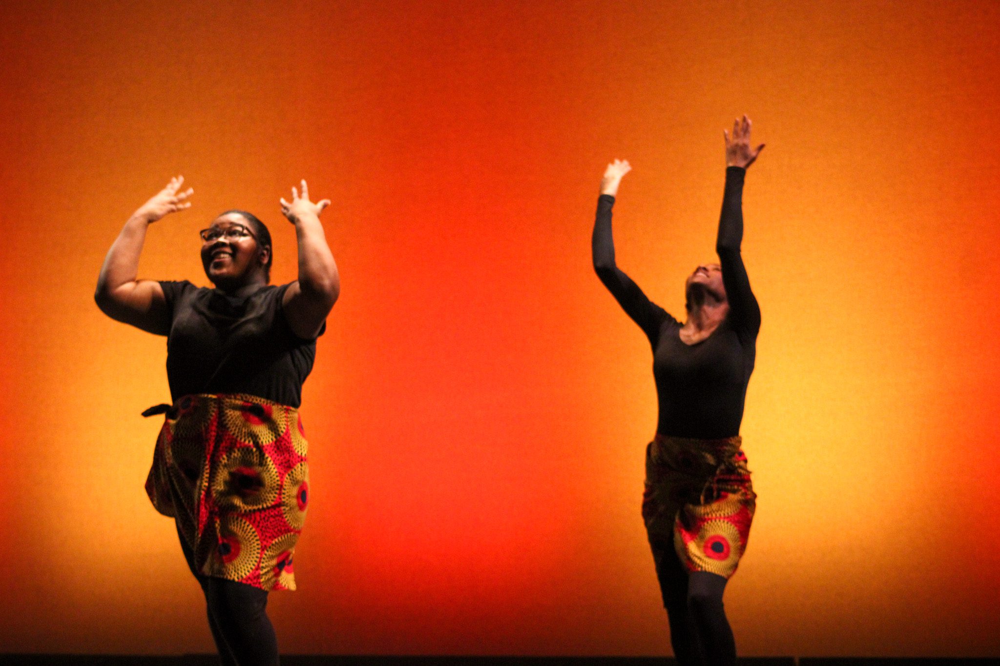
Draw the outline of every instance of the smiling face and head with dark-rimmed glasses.
[[[225,213],[216,218],[209,230],[223,232],[218,238],[201,244],[201,264],[205,275],[220,289],[246,284],[256,271],[263,271],[270,248],[261,248],[253,236],[250,223],[238,213]],[[233,231],[230,231],[233,230]],[[229,231],[229,235],[225,232]],[[242,231],[236,236],[235,231]]]

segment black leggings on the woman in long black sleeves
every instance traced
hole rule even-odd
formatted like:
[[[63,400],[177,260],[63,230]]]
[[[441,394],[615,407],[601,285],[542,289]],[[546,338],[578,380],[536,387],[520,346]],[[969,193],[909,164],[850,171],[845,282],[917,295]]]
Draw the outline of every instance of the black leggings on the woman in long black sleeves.
[[[735,666],[736,641],[722,605],[726,579],[707,571],[688,573],[672,540],[650,545],[677,663]]]

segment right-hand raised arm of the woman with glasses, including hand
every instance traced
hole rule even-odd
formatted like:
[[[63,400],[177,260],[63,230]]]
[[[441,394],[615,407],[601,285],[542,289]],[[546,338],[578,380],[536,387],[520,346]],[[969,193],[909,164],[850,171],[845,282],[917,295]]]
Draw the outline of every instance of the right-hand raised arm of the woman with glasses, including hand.
[[[281,212],[295,225],[299,245],[299,279],[285,290],[281,305],[285,319],[299,337],[316,337],[326,316],[340,296],[340,275],[337,263],[326,244],[326,234],[319,215],[329,199],[312,203],[309,187],[302,181],[302,196],[292,188],[292,201],[281,199]]]

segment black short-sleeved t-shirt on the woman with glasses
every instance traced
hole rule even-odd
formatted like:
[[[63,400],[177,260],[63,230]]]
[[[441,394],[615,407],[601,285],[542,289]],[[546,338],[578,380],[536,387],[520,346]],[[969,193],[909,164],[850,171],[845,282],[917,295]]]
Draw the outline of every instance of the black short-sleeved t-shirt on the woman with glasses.
[[[244,298],[191,283],[160,282],[170,314],[167,380],[174,400],[188,393],[249,393],[298,407],[316,339],[296,335],[281,300],[290,285]],[[320,335],[326,330],[326,324]]]

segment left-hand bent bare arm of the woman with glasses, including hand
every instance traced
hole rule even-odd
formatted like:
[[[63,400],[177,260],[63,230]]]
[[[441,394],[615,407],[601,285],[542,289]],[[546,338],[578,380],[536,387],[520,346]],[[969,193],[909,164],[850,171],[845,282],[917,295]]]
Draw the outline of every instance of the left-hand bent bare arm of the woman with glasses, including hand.
[[[132,214],[108,251],[97,278],[94,301],[111,319],[148,331],[165,334],[170,328],[166,299],[160,283],[136,280],[146,228],[164,216],[190,208],[186,201],[194,190],[178,194],[184,178],[178,176]]]

